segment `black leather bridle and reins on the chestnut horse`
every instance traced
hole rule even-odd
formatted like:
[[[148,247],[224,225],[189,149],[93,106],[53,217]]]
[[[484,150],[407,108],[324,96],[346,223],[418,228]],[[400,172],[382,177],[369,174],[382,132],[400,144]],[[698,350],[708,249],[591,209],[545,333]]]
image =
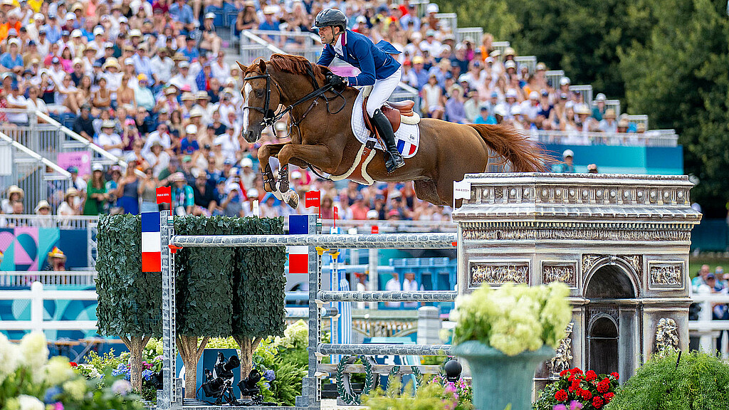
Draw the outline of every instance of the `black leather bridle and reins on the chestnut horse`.
[[[316,80],[316,76],[314,75],[313,70],[311,69],[311,63],[309,63],[309,66],[307,67],[306,71],[307,71],[307,74],[309,74],[309,77],[311,78],[311,84],[313,85],[314,90],[311,93],[308,93],[307,95],[303,96],[302,98],[299,98],[297,101],[295,101],[293,104],[289,105],[288,107],[282,109],[281,112],[278,112],[278,114],[276,112],[274,112],[273,109],[270,109],[270,97],[271,97],[270,84],[271,84],[271,82],[273,82],[273,85],[276,85],[276,88],[278,88],[279,101],[281,101],[281,96],[284,96],[284,90],[281,88],[281,85],[278,85],[278,82],[276,82],[276,80],[273,80],[273,77],[271,77],[271,75],[268,72],[268,67],[266,67],[265,74],[253,75],[251,77],[243,77],[244,82],[249,81],[249,80],[257,80],[260,78],[266,79],[266,98],[265,98],[263,107],[246,106],[246,107],[243,107],[243,109],[254,109],[257,112],[260,112],[263,115],[263,118],[259,124],[259,125],[261,125],[262,128],[266,128],[268,126],[273,126],[273,124],[275,124],[276,121],[281,120],[281,118],[284,117],[284,115],[286,115],[287,112],[290,112],[292,109],[294,109],[294,107],[296,107],[299,104],[303,104],[305,101],[308,101],[311,99],[313,99],[313,101],[311,101],[311,105],[304,112],[304,114],[301,116],[300,119],[295,120],[292,117],[292,119],[291,119],[292,127],[296,126],[298,128],[298,125],[304,120],[306,115],[308,115],[308,113],[311,112],[311,109],[313,109],[313,107],[316,104],[318,104],[319,98],[324,98],[324,101],[326,101],[326,103],[327,103],[327,112],[329,112],[330,114],[338,114],[338,112],[340,112],[342,109],[344,109],[344,107],[346,106],[346,99],[344,98],[344,96],[342,96],[342,93],[340,91],[334,90],[332,88],[332,85],[329,85],[329,84],[319,87],[319,82]],[[330,91],[330,90],[333,93],[335,93],[334,98],[341,97],[343,100],[342,107],[337,109],[335,112],[330,111],[330,106],[329,106],[329,101],[330,101],[330,99],[333,99],[333,98],[330,98],[330,97],[327,97],[324,95],[324,93],[327,93],[327,91]],[[301,131],[299,131],[299,132],[301,132]],[[289,130],[289,134],[290,134],[290,130]],[[274,133],[274,135],[276,135],[276,133]]]

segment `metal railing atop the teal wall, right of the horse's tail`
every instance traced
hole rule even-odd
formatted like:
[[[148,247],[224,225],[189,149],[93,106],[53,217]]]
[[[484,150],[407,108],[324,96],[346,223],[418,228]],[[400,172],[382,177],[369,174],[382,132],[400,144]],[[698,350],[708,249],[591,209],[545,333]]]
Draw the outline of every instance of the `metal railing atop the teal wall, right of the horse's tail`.
[[[533,132],[542,144],[677,147],[679,139],[674,130],[651,130],[642,134],[542,130]]]

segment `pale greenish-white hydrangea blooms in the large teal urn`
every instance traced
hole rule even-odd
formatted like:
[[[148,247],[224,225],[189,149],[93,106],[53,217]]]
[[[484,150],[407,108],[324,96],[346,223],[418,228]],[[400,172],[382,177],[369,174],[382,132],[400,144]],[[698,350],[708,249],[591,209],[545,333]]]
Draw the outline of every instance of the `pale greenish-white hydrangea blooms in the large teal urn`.
[[[555,282],[547,286],[505,284],[494,290],[483,285],[459,297],[453,343],[476,340],[505,355],[557,347],[572,317],[569,288]]]

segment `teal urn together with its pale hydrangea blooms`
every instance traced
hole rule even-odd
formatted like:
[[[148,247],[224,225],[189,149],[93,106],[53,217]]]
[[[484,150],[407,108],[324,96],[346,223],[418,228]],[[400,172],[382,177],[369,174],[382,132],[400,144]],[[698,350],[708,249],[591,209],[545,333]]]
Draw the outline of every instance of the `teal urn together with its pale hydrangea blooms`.
[[[528,410],[534,369],[554,355],[572,317],[569,288],[482,285],[456,301],[451,352],[469,363],[477,409]]]

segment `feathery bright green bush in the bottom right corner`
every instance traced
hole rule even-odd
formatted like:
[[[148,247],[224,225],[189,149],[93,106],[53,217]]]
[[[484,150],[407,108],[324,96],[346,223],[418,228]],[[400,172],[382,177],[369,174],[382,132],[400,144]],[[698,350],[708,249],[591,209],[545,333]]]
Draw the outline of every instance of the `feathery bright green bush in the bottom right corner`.
[[[714,355],[677,352],[654,355],[607,406],[607,410],[725,410],[729,364]]]

